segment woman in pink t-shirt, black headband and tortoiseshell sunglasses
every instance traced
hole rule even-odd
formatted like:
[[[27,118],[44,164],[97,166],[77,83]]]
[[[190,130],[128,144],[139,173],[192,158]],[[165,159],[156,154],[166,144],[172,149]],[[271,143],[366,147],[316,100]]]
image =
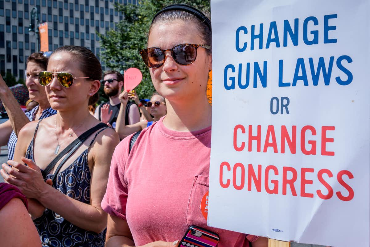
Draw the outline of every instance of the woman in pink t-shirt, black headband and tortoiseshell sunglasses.
[[[212,70],[211,22],[183,4],[154,17],[148,47],[140,51],[167,114],[116,147],[102,208],[108,213],[106,246],[179,246],[189,226],[220,236],[218,247],[267,247],[262,237],[207,226],[201,201],[208,193]]]

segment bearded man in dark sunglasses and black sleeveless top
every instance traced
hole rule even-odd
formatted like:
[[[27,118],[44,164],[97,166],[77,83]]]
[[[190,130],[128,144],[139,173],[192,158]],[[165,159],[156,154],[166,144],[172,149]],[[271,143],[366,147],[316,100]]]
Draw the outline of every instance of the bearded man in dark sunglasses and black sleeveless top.
[[[108,70],[104,72],[104,79],[101,80],[104,85],[104,93],[109,97],[108,102],[101,103],[95,110],[94,116],[96,119],[101,121],[101,107],[104,104],[109,105],[109,112],[112,111],[112,115],[108,123],[115,129],[118,112],[120,111],[121,102],[118,96],[121,93],[123,86],[123,76],[120,72],[114,70]],[[140,121],[139,109],[131,101],[128,101],[125,110],[125,125],[134,124]]]

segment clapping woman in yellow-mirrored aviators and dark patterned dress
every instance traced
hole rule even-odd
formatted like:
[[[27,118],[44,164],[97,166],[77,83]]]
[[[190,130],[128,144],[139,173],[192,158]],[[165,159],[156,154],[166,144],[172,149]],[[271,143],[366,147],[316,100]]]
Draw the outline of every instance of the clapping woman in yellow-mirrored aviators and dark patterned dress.
[[[107,216],[100,203],[119,138],[88,110],[101,74],[85,47],[56,49],[38,79],[57,114],[24,126],[15,161],[8,162],[13,168],[3,165],[4,179],[28,198],[43,246],[104,246]]]

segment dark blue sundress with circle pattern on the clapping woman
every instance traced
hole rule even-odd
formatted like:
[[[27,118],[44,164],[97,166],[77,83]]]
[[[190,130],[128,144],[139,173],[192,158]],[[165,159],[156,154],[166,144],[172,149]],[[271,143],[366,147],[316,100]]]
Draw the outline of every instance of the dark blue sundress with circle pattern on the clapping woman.
[[[38,122],[35,134],[38,129]],[[94,142],[97,135],[105,128],[99,130],[92,139],[89,147]],[[33,159],[34,138],[27,148],[26,158]],[[57,174],[53,187],[61,193],[86,204],[90,204],[90,180],[91,173],[87,163],[88,148],[78,156],[73,163],[64,171]],[[52,178],[53,174],[48,174],[46,179]],[[33,221],[38,234],[40,235],[43,247],[100,247],[104,246],[105,232],[97,234],[75,226],[65,220],[59,214],[46,209],[44,214]]]

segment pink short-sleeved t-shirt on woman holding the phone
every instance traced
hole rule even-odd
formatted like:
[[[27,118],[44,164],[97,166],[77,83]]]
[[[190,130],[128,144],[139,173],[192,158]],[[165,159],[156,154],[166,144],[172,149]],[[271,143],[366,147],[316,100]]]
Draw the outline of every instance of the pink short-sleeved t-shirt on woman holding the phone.
[[[211,126],[178,132],[166,128],[162,117],[142,130],[128,154],[130,139],[115,148],[101,206],[127,220],[135,245],[181,240],[196,225],[218,233],[218,247],[248,246],[245,234],[208,227],[201,212],[209,186]]]

